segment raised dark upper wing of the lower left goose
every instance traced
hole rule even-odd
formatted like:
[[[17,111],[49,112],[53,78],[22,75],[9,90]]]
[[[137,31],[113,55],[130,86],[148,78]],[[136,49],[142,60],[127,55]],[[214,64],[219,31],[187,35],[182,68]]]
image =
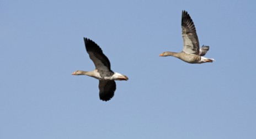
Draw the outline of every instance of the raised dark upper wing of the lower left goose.
[[[95,68],[99,70],[110,70],[110,62],[108,57],[102,52],[102,49],[89,38],[83,38],[86,45],[86,51],[92,59]]]

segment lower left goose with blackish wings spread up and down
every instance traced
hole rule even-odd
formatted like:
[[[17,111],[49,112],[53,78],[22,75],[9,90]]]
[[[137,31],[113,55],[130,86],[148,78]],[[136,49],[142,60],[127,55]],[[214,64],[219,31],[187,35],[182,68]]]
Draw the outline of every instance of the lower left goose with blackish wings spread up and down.
[[[86,51],[92,59],[95,69],[92,71],[77,70],[72,75],[88,75],[99,80],[99,98],[102,101],[109,101],[116,90],[114,80],[128,80],[128,77],[116,73],[110,69],[109,59],[103,54],[102,49],[92,40],[84,38]]]

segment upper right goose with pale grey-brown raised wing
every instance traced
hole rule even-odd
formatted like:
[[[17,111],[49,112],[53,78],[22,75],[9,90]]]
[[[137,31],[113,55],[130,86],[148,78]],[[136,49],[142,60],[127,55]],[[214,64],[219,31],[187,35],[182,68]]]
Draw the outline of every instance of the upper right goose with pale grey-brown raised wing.
[[[195,25],[190,15],[185,10],[182,11],[182,37],[183,51],[180,53],[163,52],[159,56],[173,56],[188,63],[205,63],[215,61],[212,58],[202,57],[209,50],[209,46],[202,46],[199,49],[198,35],[196,35]]]

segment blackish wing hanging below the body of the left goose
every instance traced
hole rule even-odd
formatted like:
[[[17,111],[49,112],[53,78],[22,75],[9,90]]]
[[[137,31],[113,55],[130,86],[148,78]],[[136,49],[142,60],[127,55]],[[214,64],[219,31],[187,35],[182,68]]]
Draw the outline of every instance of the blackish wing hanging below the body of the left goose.
[[[116,90],[114,80],[99,80],[99,98],[102,101],[109,101]]]

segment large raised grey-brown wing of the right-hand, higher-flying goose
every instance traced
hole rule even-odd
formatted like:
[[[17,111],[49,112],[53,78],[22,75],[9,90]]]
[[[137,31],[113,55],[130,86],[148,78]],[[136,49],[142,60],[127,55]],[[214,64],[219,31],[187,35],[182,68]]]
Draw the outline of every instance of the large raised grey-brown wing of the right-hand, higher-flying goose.
[[[183,51],[190,54],[199,54],[199,41],[195,25],[188,12],[182,11]]]

